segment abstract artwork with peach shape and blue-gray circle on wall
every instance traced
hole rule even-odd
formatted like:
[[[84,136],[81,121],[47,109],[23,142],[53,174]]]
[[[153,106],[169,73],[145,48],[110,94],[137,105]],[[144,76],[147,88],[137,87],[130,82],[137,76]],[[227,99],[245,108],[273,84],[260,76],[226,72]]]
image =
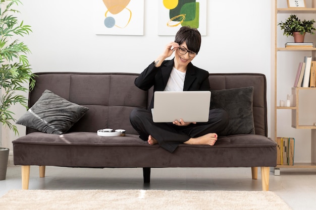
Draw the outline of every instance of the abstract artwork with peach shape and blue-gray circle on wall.
[[[144,0],[93,0],[96,34],[143,35]]]

